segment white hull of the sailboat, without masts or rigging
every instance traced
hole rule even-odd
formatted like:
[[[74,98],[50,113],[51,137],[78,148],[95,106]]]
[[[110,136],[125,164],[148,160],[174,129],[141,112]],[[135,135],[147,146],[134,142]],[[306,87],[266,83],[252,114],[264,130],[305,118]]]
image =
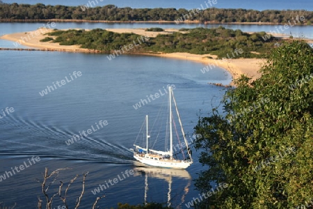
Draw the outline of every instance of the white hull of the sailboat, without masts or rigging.
[[[134,155],[134,158],[143,164],[147,164],[153,167],[163,167],[170,169],[186,169],[191,165],[190,161],[182,161],[182,160],[153,160],[145,157],[141,157],[141,155]]]

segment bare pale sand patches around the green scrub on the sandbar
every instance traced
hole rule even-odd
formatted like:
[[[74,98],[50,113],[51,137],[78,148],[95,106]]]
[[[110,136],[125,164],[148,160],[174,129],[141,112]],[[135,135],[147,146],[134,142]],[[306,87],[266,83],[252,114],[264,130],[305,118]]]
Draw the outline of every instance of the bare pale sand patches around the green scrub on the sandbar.
[[[177,29],[166,29],[165,32],[149,32],[145,29],[107,29],[108,31],[113,31],[115,33],[136,33],[141,36],[155,37],[159,33],[172,33],[177,31]],[[58,49],[59,51],[65,52],[90,52],[90,49],[81,49],[79,46],[63,46],[58,43],[53,42],[40,42],[41,39],[47,37],[45,33],[53,31],[51,29],[38,29],[36,31],[29,31],[23,33],[12,33],[0,36],[0,39],[13,41],[13,48],[19,47],[19,45],[25,45],[28,47],[34,47],[39,49]],[[170,53],[170,54],[146,54],[150,56],[161,56],[170,59],[184,59],[188,61],[196,61],[203,63],[202,69],[199,70],[201,73],[206,73],[207,71],[215,68],[216,66],[224,68],[232,74],[232,78],[237,79],[240,75],[244,74],[253,79],[259,78],[261,75],[258,70],[260,69],[262,63],[265,62],[264,59],[223,59],[217,60],[215,55],[211,54],[189,54],[189,53]],[[209,59],[210,56],[213,59]],[[207,70],[206,70],[207,68]],[[231,83],[233,85],[233,82]]]

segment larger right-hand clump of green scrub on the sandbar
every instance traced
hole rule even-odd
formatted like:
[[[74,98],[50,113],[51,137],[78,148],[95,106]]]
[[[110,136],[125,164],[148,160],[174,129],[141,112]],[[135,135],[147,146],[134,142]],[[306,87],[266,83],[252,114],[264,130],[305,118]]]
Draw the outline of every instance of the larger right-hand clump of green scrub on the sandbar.
[[[189,29],[188,33],[172,33],[159,35],[151,39],[149,50],[152,52],[188,52],[191,54],[214,54],[222,58],[231,54],[234,49],[242,49],[239,57],[260,57],[262,55],[251,54],[259,52],[264,54],[273,47],[273,38],[264,42],[262,36],[265,33],[243,33],[241,30],[225,29]],[[230,55],[231,56],[231,55]]]

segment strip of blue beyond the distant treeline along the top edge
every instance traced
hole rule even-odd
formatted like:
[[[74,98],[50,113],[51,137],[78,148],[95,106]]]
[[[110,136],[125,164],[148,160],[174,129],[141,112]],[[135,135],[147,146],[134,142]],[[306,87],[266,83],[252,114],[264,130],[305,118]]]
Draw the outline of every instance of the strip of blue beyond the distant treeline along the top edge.
[[[79,6],[88,3],[89,0],[3,0],[5,3],[45,3],[51,5],[68,5],[68,6]],[[136,1],[129,1],[129,0],[93,0],[97,4],[97,6],[105,6],[108,4],[114,4],[118,7],[131,7],[131,8],[200,8],[200,5],[203,6],[207,3],[207,0],[159,0],[159,1],[146,1],[146,0],[136,0]],[[98,3],[97,3],[98,1]],[[213,4],[213,3],[212,3]],[[208,3],[209,5],[209,3]],[[216,4],[213,4],[216,8],[246,8],[246,9],[254,9],[254,10],[313,10],[313,3],[311,0],[264,0],[264,1],[250,1],[250,0],[241,0],[241,1],[234,1],[234,0],[217,0]]]

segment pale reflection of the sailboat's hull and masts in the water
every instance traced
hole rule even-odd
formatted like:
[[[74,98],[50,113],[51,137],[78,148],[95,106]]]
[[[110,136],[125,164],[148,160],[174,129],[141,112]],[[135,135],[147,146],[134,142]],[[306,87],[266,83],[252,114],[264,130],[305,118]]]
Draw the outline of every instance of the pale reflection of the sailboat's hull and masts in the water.
[[[166,180],[168,183],[168,196],[167,196],[167,205],[171,206],[172,199],[171,199],[171,192],[172,192],[172,181],[177,179],[186,179],[186,186],[184,186],[184,191],[182,197],[180,198],[180,203],[177,205],[176,208],[182,208],[182,203],[185,202],[186,194],[189,192],[189,187],[191,185],[191,175],[188,171],[184,169],[165,169],[161,167],[135,167],[134,168],[134,176],[145,176],[145,203],[147,203],[147,191],[149,190],[148,185],[148,178],[157,178],[160,180]],[[179,192],[175,191],[175,199]]]

